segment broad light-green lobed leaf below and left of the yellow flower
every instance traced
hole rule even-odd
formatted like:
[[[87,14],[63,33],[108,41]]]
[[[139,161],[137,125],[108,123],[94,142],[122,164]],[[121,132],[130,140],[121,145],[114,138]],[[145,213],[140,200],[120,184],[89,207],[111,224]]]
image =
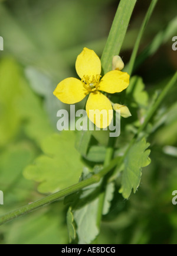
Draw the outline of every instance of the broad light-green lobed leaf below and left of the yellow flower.
[[[53,193],[78,182],[84,164],[74,148],[75,139],[75,132],[64,131],[44,140],[44,155],[24,171],[25,178],[40,183],[38,191]]]

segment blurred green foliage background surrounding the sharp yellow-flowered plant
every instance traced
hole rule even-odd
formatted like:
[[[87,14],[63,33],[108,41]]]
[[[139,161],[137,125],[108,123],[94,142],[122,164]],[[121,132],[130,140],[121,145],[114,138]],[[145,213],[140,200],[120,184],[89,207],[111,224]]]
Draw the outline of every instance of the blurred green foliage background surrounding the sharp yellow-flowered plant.
[[[83,47],[101,56],[119,1],[0,2],[3,215],[44,197],[37,183],[26,180],[22,172],[41,155],[42,141],[57,132],[57,110],[68,108],[53,96],[53,90],[61,79],[76,76],[74,65]],[[137,2],[120,54],[124,63],[129,62],[149,4],[149,0]],[[177,36],[176,8],[176,0],[159,1],[143,35],[139,50],[143,55],[137,58],[134,74],[142,76],[149,99],[176,71],[177,52],[172,50],[172,37]],[[172,191],[177,190],[176,95],[174,87],[154,118],[154,132],[148,139],[152,163],[143,169],[137,193],[126,201],[117,184],[110,213],[101,225],[100,244],[176,244],[177,205],[172,204]],[[57,202],[1,226],[0,242],[68,243],[66,212],[67,206]]]

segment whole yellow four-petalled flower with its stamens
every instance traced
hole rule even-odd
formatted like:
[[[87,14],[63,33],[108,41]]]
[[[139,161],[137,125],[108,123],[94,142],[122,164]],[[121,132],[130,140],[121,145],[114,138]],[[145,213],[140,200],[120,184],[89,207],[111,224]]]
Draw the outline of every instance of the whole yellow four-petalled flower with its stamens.
[[[109,99],[100,91],[110,94],[123,91],[129,85],[129,75],[126,72],[114,70],[101,78],[100,59],[93,50],[87,48],[77,56],[76,71],[81,80],[64,79],[57,85],[54,95],[63,103],[74,104],[90,94],[86,104],[87,116],[96,126],[106,128],[112,121],[113,114],[110,114],[109,110],[113,108]],[[96,120],[95,116],[89,113],[90,110],[104,110],[100,120]]]

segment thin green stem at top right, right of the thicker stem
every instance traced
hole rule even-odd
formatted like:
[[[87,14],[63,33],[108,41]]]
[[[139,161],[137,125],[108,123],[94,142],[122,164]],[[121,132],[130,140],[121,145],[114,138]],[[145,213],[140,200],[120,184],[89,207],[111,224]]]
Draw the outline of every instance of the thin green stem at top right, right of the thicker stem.
[[[151,4],[149,6],[148,12],[146,12],[145,19],[143,20],[143,23],[140,27],[139,34],[137,36],[135,46],[133,48],[132,56],[131,56],[130,62],[129,62],[128,73],[129,73],[130,76],[132,75],[133,67],[135,65],[136,55],[137,55],[137,51],[139,49],[140,41],[142,39],[142,36],[143,36],[144,31],[145,31],[146,25],[148,24],[148,21],[150,20],[153,9],[155,8],[157,2],[158,2],[158,0],[152,0]]]

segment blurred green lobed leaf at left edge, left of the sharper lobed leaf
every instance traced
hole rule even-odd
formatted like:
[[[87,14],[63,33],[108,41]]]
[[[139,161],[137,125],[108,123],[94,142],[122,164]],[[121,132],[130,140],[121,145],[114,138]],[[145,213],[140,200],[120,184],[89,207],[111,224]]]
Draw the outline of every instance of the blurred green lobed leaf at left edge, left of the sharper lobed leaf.
[[[27,142],[10,145],[0,154],[0,189],[4,191],[5,205],[0,212],[12,210],[19,202],[28,203],[34,199],[30,193],[33,183],[25,180],[22,171],[34,159],[35,151]]]

